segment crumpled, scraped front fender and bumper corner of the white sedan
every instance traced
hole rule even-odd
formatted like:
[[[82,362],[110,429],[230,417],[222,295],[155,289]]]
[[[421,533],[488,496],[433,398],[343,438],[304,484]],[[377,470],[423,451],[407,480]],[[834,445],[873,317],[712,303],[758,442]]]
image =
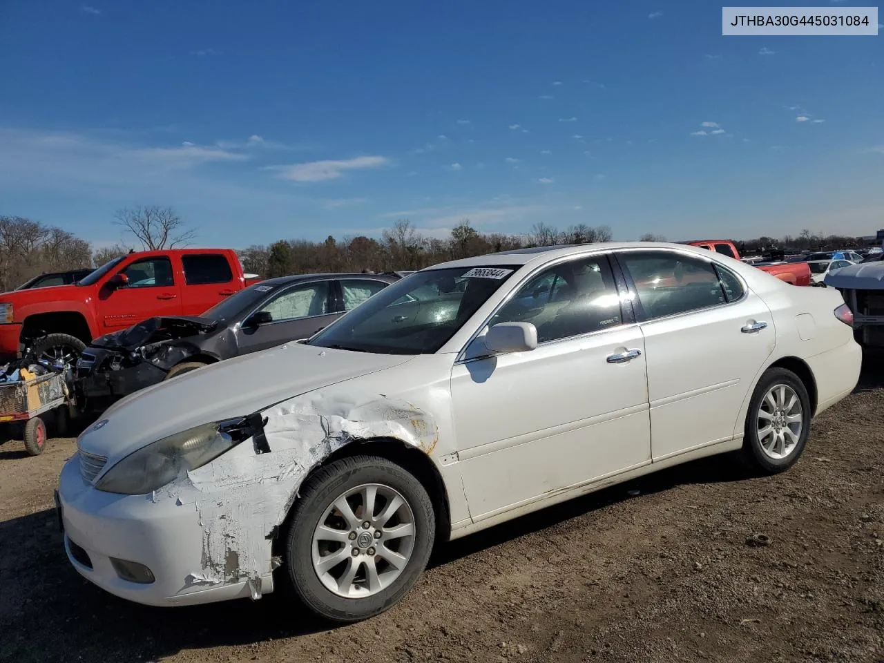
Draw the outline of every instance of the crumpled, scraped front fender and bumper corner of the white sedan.
[[[202,567],[182,579],[186,585],[247,581],[258,598],[255,588],[279,561],[272,557],[270,535],[304,479],[331,453],[377,438],[432,453],[438,442],[438,425],[428,412],[380,395],[355,403],[319,390],[260,415],[265,448],[240,444],[163,491],[179,507],[195,509],[202,528]]]

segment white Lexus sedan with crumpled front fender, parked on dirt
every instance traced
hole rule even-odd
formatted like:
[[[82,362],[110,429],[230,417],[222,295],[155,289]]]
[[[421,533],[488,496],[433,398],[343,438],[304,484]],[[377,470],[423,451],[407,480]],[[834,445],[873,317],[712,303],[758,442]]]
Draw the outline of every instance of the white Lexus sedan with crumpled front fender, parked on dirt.
[[[439,541],[714,453],[789,468],[857,384],[850,321],[834,289],[682,245],[439,264],[119,401],[59,478],[65,550],[139,603],[290,583],[361,620]]]

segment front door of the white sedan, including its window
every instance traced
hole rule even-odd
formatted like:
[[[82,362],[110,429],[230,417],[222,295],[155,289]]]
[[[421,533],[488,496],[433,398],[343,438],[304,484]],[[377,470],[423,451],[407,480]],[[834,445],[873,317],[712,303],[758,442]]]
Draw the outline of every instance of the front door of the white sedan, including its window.
[[[529,352],[455,364],[452,408],[474,520],[651,461],[642,332],[606,255],[560,263],[490,324],[528,322]]]

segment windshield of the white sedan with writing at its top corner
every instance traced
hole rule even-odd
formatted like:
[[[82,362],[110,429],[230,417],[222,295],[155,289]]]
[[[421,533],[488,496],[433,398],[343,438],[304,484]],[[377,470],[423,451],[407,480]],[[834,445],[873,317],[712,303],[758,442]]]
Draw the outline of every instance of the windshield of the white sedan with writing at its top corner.
[[[432,354],[519,265],[418,271],[320,331],[308,345],[377,354]]]

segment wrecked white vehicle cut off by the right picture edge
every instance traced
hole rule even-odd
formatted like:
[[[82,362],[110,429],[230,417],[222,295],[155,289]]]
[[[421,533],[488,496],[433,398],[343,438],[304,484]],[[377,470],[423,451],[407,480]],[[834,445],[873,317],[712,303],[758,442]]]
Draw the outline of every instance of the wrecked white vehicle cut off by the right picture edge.
[[[884,261],[859,263],[830,272],[825,284],[836,288],[850,307],[857,343],[884,347]]]

